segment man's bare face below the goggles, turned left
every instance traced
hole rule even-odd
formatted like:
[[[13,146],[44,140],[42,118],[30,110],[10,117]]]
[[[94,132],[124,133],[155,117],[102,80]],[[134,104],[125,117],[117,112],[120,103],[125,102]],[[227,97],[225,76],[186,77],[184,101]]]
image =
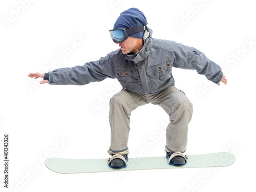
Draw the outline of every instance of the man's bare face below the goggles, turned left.
[[[143,41],[142,39],[134,38],[134,37],[128,37],[125,41],[118,43],[120,49],[122,50],[123,54],[127,53],[138,53],[141,48],[143,47]]]

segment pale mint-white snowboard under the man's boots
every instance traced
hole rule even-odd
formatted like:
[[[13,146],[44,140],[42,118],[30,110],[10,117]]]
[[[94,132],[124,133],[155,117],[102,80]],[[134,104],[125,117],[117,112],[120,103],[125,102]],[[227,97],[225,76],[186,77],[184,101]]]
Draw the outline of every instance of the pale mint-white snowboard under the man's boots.
[[[46,166],[56,173],[77,174],[96,172],[116,172],[124,170],[145,170],[145,169],[168,169],[168,168],[193,168],[193,167],[223,167],[234,163],[236,157],[227,152],[187,155],[188,161],[185,165],[169,165],[166,157],[141,157],[129,158],[127,167],[111,168],[107,159],[63,159],[48,158]]]

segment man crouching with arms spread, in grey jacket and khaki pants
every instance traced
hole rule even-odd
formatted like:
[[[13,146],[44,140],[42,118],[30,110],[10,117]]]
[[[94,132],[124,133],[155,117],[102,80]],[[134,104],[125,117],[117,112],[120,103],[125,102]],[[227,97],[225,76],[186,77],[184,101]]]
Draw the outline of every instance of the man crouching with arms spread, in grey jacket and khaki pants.
[[[130,115],[146,103],[160,105],[169,115],[166,129],[166,158],[170,165],[186,163],[188,123],[193,106],[185,94],[175,87],[172,67],[195,69],[216,84],[227,83],[221,68],[202,52],[174,41],[152,38],[145,15],[136,8],[120,14],[110,30],[111,38],[120,47],[97,61],[84,66],[56,69],[46,74],[30,73],[44,78],[40,84],[88,84],[105,78],[117,78],[123,90],[110,100],[112,168],[123,168],[128,160]]]

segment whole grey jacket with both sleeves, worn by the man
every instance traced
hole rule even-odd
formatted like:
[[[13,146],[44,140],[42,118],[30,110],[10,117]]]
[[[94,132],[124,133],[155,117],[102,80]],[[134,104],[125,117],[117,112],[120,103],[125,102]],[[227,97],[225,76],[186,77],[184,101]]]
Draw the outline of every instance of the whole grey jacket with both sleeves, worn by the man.
[[[123,88],[141,94],[158,93],[174,86],[172,67],[195,69],[212,82],[223,77],[221,68],[199,50],[174,41],[152,38],[152,30],[144,34],[144,46],[136,54],[123,54],[120,49],[87,62],[84,66],[49,72],[50,84],[83,85],[117,78]]]

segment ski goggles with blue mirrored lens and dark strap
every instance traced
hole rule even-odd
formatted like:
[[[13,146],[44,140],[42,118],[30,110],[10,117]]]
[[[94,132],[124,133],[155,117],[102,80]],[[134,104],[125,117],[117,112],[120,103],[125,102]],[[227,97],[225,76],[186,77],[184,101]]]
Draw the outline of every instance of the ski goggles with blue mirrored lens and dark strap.
[[[129,35],[138,32],[144,32],[145,29],[145,26],[137,26],[130,29],[112,29],[110,30],[110,36],[115,43],[118,42],[120,44],[121,42],[125,41],[129,37]]]

